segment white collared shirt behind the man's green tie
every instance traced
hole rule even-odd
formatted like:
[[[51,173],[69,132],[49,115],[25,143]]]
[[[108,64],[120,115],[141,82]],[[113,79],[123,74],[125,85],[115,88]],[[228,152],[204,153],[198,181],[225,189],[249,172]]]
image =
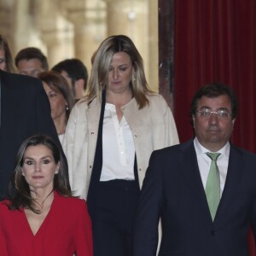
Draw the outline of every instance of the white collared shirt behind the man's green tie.
[[[199,166],[199,171],[201,175],[201,181],[203,183],[204,189],[206,189],[207,177],[210,171],[210,166],[212,160],[207,156],[207,152],[209,151],[207,148],[204,148],[201,143],[199,143],[198,139],[195,137],[194,139],[195,153],[197,156],[197,162]],[[220,153],[217,159],[217,166],[220,177],[220,193],[222,195],[224,190],[224,185],[227,177],[228,166],[229,166],[229,157],[230,157],[230,143],[226,143],[223,148],[218,150],[218,152],[211,153]]]

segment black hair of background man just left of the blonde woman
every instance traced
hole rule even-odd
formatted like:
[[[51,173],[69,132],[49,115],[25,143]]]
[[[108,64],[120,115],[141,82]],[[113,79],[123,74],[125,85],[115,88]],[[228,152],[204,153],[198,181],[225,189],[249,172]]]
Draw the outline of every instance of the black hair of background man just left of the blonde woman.
[[[66,71],[67,75],[70,77],[70,79],[72,79],[73,84],[78,79],[84,79],[84,90],[86,89],[88,72],[87,68],[84,66],[84,63],[79,59],[67,59],[61,61],[52,67],[52,70],[58,73]]]

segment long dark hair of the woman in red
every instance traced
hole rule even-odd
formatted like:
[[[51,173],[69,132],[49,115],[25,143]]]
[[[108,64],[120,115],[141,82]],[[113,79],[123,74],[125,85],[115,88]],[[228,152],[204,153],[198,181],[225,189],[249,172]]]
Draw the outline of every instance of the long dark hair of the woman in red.
[[[67,176],[67,165],[61,155],[61,150],[55,144],[53,139],[44,135],[36,134],[31,137],[27,137],[20,145],[20,149],[15,160],[15,172],[11,178],[9,184],[9,209],[20,210],[20,208],[28,208],[32,212],[39,213],[37,204],[32,199],[31,191],[28,183],[26,183],[25,177],[21,173],[21,168],[24,164],[24,154],[26,148],[30,146],[44,145],[49,148],[53,154],[55,163],[60,163],[59,172],[54,177],[54,189],[58,194],[63,196],[72,196],[70,185]]]

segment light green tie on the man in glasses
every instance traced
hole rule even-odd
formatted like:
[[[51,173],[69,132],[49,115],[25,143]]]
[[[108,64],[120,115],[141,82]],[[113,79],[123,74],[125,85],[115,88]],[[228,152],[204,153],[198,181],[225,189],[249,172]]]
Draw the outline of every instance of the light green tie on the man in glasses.
[[[212,160],[206,186],[207,202],[211,212],[212,220],[215,218],[220,200],[219,172],[216,163],[219,155],[219,153],[207,153],[207,156]]]

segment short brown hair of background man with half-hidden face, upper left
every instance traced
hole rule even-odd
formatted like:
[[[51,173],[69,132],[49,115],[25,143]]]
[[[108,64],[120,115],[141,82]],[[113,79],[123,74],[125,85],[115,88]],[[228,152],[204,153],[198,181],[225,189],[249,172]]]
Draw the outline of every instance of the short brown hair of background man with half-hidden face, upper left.
[[[18,54],[15,56],[15,65],[18,67],[18,62],[21,60],[31,60],[31,59],[38,59],[42,63],[42,68],[44,71],[49,70],[49,65],[46,56],[43,52],[35,47],[27,47],[24,49],[20,49]]]

